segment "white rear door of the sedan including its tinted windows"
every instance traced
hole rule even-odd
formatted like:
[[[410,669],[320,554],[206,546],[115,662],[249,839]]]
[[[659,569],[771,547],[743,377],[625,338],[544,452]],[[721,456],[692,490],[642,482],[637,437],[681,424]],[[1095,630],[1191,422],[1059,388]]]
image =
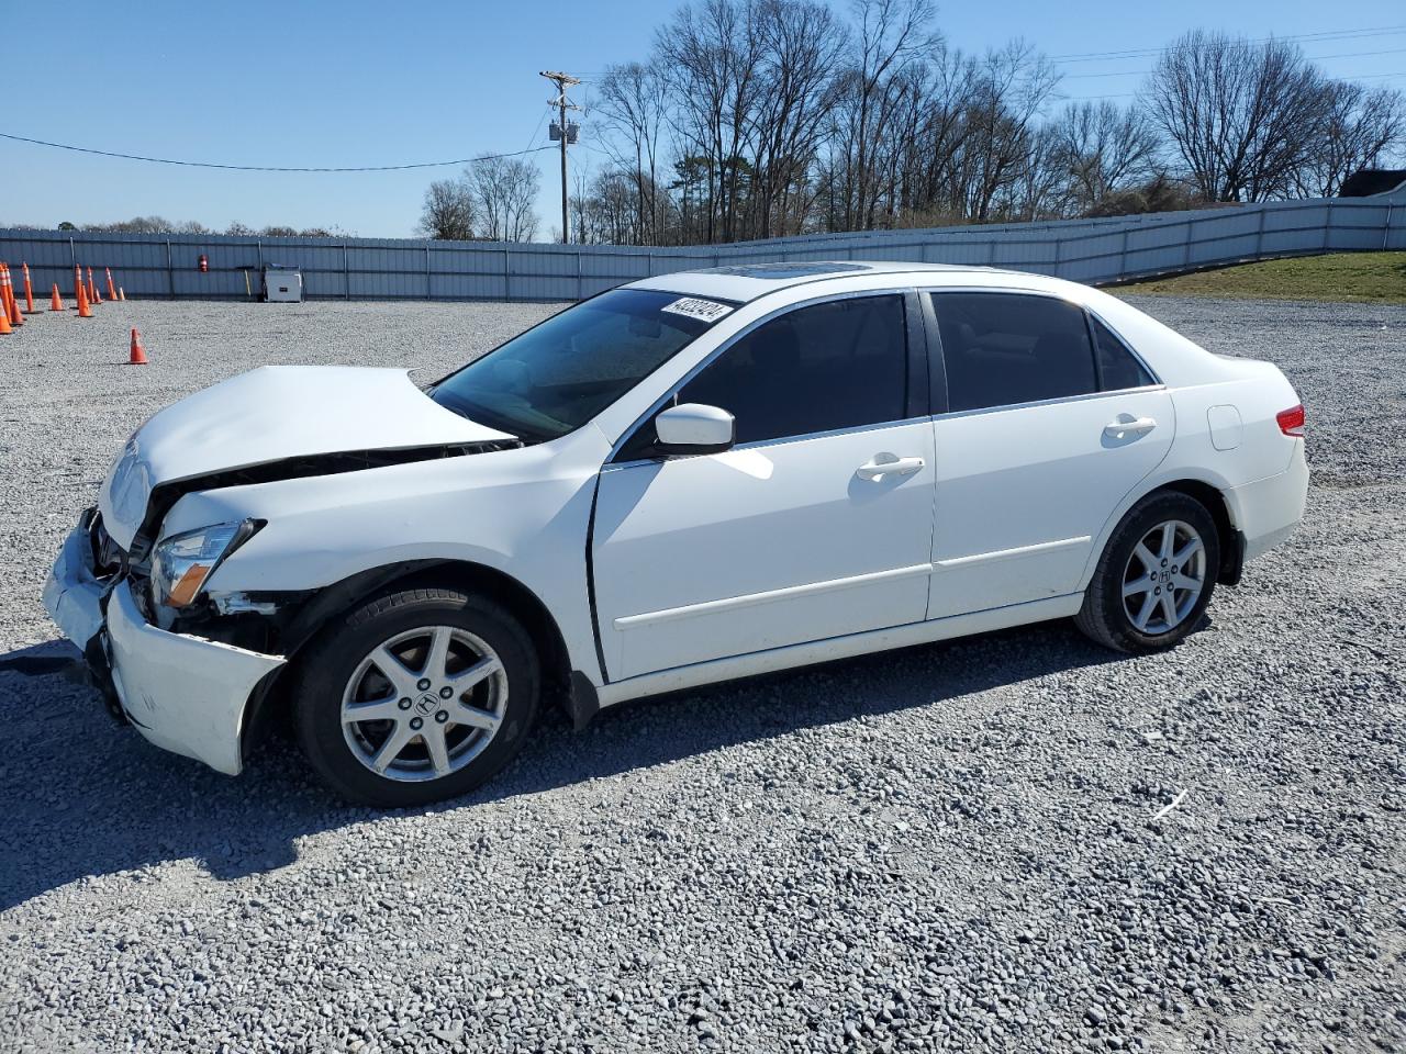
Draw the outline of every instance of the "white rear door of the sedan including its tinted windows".
[[[1076,592],[1108,517],[1171,448],[1170,393],[1054,297],[934,292],[925,306],[948,408],[934,417],[928,617]]]

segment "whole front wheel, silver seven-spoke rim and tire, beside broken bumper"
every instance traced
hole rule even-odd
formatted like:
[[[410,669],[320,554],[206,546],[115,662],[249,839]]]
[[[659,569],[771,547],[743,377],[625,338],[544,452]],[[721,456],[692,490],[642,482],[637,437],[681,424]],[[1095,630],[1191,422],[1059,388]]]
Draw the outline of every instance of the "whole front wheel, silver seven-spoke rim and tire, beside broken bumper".
[[[537,713],[526,631],[482,597],[415,589],[330,627],[299,665],[298,735],[337,793],[371,805],[464,794],[522,748]]]

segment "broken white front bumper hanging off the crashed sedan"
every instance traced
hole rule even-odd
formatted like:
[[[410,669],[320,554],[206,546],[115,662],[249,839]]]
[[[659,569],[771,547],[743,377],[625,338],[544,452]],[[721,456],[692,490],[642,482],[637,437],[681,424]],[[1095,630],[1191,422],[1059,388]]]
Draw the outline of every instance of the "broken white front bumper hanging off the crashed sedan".
[[[59,551],[44,587],[49,617],[84,655],[100,649],[107,669],[97,676],[111,680],[122,713],[148,741],[238,774],[250,697],[287,661],[150,625],[129,580],[97,576],[91,530],[90,512]]]

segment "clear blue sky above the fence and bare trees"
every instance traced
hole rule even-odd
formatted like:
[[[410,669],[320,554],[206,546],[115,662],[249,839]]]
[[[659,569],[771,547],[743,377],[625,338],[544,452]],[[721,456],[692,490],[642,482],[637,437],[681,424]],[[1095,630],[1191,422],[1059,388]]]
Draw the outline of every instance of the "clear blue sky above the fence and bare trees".
[[[845,0],[837,0],[837,7]],[[236,164],[357,166],[468,157],[546,143],[540,69],[589,74],[643,58],[672,0],[519,3],[63,3],[21,20],[0,0],[7,105],[0,132],[104,150]],[[1136,13],[1133,13],[1136,11]],[[1112,13],[1112,14],[1111,14]],[[17,31],[18,25],[22,31]],[[1389,27],[1305,42],[1343,77],[1406,90],[1406,8],[1330,4],[942,3],[936,27],[969,51],[1022,35],[1060,58],[1067,97],[1136,90],[1152,59],[1078,60],[1160,46],[1188,28],[1250,37]],[[589,80],[589,77],[588,77]],[[589,84],[578,89],[591,101]],[[589,117],[583,139],[591,142]],[[589,150],[574,163],[599,164]],[[543,169],[541,236],[560,208]],[[159,214],[224,229],[339,226],[413,233],[425,186],[453,170],[270,174],[91,157],[0,139],[0,225]]]

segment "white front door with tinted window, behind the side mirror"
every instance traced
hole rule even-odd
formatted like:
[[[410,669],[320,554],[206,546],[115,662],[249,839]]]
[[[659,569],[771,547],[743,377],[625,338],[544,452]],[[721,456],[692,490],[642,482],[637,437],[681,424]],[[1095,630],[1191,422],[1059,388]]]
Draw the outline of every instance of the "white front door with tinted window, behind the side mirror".
[[[733,413],[733,450],[659,457],[652,417],[638,426],[600,474],[592,528],[610,680],[925,617],[921,341],[912,294],[796,308],[671,401]]]

